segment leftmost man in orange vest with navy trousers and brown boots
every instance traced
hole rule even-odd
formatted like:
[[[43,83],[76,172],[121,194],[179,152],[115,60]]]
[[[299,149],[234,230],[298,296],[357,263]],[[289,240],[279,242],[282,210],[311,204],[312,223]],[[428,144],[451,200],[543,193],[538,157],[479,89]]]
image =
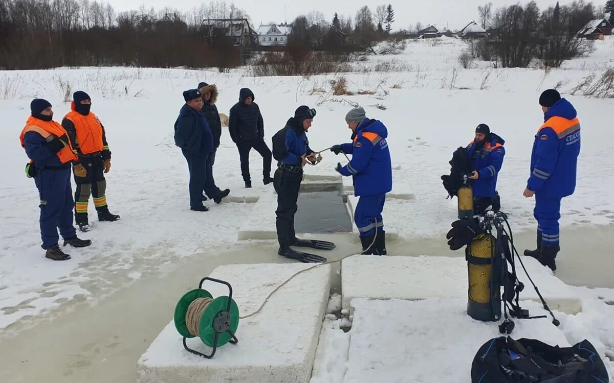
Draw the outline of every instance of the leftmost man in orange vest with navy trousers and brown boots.
[[[60,124],[53,121],[53,110],[47,100],[34,99],[32,115],[26,121],[19,140],[30,162],[26,175],[34,178],[41,199],[41,238],[45,257],[53,260],[71,259],[58,245],[58,228],[64,246],[84,248],[90,240],[77,238],[72,226],[71,162],[77,159],[71,142]]]

